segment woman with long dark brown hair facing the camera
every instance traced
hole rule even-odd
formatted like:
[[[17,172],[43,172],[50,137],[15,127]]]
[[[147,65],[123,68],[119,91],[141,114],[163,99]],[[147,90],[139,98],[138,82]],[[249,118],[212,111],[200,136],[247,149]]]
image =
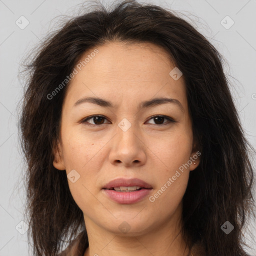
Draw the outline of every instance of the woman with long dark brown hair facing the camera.
[[[247,255],[252,148],[221,61],[134,1],[43,42],[20,118],[35,255]]]

